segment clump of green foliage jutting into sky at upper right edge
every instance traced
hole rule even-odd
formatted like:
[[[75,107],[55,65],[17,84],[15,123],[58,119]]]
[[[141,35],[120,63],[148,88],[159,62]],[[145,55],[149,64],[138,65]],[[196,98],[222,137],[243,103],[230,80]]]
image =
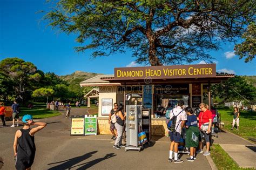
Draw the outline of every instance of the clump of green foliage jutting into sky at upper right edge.
[[[247,31],[242,35],[244,42],[234,47],[235,54],[239,59],[245,58],[245,63],[251,62],[256,55],[256,25],[255,22],[248,26]]]

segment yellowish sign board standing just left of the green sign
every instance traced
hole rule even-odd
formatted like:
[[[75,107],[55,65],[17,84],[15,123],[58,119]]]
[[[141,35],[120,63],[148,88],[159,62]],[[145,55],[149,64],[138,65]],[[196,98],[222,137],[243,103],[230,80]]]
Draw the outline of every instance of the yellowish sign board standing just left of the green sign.
[[[84,117],[71,118],[70,135],[84,135]]]

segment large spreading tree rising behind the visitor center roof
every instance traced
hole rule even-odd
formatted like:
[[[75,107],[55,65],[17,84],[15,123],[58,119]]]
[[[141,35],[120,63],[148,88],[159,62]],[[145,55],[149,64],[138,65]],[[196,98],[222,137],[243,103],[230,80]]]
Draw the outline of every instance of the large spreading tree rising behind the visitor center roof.
[[[221,41],[234,41],[255,19],[254,1],[59,0],[49,25],[75,33],[93,57],[133,51],[137,63],[191,63],[212,59]]]

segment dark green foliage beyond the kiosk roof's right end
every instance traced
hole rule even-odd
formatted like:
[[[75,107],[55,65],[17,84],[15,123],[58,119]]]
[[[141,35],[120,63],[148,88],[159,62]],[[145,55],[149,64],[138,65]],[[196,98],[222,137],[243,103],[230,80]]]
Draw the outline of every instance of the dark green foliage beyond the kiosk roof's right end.
[[[256,97],[256,88],[248,84],[244,76],[235,76],[227,81],[223,81],[219,84],[213,84],[211,86],[211,93],[213,97],[222,98],[223,101],[242,101],[241,96],[249,101],[252,101]]]

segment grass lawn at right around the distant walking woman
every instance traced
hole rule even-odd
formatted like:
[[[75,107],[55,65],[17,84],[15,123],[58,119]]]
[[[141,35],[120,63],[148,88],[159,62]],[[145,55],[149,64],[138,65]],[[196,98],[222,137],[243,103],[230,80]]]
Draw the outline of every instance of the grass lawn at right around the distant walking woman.
[[[221,122],[224,122],[224,130],[245,139],[256,138],[256,112],[241,111],[239,131],[236,130],[236,125],[232,131],[233,112],[226,108],[218,108],[218,111],[221,114]]]

